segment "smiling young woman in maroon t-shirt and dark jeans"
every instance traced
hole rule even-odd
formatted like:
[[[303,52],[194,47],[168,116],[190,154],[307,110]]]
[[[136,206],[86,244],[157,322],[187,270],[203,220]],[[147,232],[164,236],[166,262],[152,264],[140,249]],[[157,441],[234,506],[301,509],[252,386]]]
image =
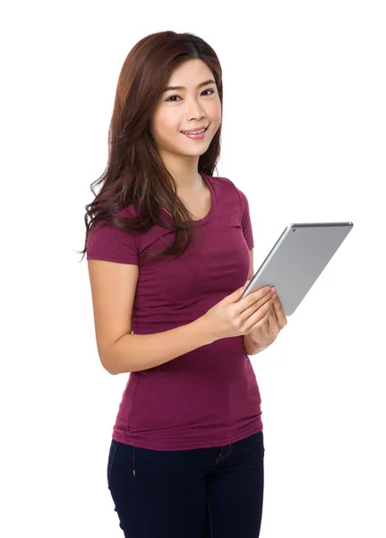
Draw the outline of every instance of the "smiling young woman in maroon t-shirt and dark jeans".
[[[270,288],[237,302],[253,276],[253,230],[244,193],[212,175],[222,96],[205,41],[140,40],[86,206],[99,358],[110,374],[130,372],[107,462],[126,537],[260,534],[261,396],[248,355],[287,320]]]

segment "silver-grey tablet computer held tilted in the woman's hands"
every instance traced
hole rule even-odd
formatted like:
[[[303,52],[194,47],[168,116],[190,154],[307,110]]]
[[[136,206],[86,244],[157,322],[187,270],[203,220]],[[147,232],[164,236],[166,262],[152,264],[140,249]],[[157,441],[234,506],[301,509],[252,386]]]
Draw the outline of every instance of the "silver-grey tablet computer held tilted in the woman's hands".
[[[238,300],[275,286],[285,315],[291,316],[353,226],[353,222],[288,224]]]

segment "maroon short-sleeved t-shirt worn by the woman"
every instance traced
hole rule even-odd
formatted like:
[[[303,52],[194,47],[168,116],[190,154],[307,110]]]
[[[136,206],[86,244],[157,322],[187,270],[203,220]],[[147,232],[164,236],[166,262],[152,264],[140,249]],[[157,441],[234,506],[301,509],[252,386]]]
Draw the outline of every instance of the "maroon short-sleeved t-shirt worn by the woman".
[[[227,178],[202,174],[210,212],[182,256],[142,258],[164,250],[173,230],[125,232],[91,227],[87,259],[139,265],[133,334],[154,334],[202,317],[244,285],[253,230],[244,193]],[[118,216],[134,216],[133,204]],[[171,216],[161,210],[164,220]],[[186,450],[229,445],[262,430],[261,395],[243,336],[222,338],[158,367],[131,372],[112,437],[134,447]]]

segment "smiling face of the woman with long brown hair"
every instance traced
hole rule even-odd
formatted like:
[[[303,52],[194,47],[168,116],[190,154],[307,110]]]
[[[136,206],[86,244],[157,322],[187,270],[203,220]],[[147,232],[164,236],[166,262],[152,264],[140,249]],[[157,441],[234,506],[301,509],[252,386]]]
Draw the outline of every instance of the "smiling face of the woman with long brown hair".
[[[200,86],[202,82],[212,80]],[[188,60],[176,68],[167,86],[184,89],[162,93],[152,117],[151,133],[163,157],[200,157],[210,146],[221,122],[221,102],[213,74],[202,60]],[[208,126],[202,138],[192,139],[181,131]]]

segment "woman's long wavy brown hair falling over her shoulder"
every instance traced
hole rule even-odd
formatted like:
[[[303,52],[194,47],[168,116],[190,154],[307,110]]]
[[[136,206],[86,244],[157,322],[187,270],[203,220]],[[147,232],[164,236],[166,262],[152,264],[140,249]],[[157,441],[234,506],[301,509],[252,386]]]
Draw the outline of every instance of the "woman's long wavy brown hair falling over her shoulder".
[[[150,118],[172,72],[187,60],[199,58],[209,66],[219,92],[222,116],[222,71],[219,58],[203,39],[191,33],[161,31],[141,39],[124,60],[119,74],[116,99],[108,130],[107,168],[91,183],[94,201],[85,206],[87,252],[90,227],[99,221],[122,230],[146,231],[155,224],[176,231],[171,247],[154,256],[180,255],[193,239],[194,222],[176,195],[176,181],[167,171],[150,134]],[[213,175],[220,153],[221,123],[208,150],[200,156],[199,173]],[[94,186],[102,184],[96,195]],[[115,213],[134,204],[138,218],[117,217]],[[160,209],[169,213],[172,224],[162,221]],[[90,222],[88,222],[90,219]],[[178,247],[181,232],[187,239]],[[186,234],[184,234],[186,237]],[[83,259],[83,256],[81,259]]]

